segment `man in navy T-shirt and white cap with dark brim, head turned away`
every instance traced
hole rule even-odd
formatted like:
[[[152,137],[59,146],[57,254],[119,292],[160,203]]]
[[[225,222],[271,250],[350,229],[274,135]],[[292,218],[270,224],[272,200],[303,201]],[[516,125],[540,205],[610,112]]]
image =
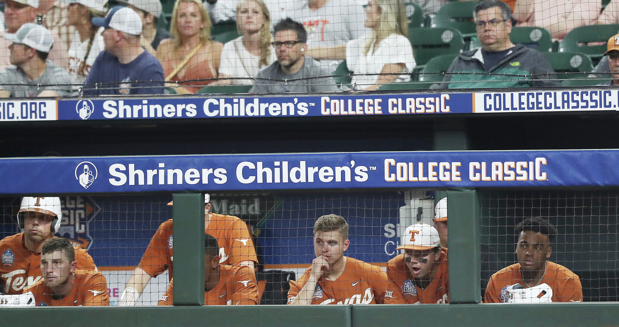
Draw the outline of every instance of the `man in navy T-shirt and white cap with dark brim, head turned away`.
[[[163,94],[163,68],[140,43],[140,15],[116,6],[105,17],[93,17],[92,23],[105,28],[105,51],[90,69],[84,95]]]

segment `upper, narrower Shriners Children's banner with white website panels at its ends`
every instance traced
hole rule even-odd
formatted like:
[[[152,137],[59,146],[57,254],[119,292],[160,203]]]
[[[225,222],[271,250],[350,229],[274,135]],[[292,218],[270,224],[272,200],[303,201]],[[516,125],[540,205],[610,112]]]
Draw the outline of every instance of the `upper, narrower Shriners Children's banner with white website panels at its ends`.
[[[0,101],[0,121],[386,116],[402,114],[616,111],[619,90],[530,90],[435,94],[208,96]]]

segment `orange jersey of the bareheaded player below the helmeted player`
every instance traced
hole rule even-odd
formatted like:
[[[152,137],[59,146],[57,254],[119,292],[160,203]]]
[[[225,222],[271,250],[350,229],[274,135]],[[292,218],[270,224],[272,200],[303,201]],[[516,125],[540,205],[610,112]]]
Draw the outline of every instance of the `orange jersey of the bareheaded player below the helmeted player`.
[[[110,305],[108,295],[108,283],[105,276],[94,270],[79,270],[73,272],[73,289],[62,300],[52,299],[51,288],[41,279],[28,287],[24,292],[32,292],[35,295],[37,306],[51,307],[79,307],[81,305]]]

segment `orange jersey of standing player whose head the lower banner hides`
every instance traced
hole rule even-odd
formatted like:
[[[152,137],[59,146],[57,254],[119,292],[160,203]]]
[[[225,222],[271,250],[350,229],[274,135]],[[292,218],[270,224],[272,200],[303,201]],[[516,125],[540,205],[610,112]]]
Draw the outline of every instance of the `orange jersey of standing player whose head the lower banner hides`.
[[[249,236],[249,229],[245,221],[240,218],[211,213],[209,227],[204,232],[217,239],[219,254],[222,256],[219,261],[220,265],[236,265],[243,261],[258,262],[254,242]],[[155,232],[138,266],[152,277],[168,270],[171,281],[174,276],[172,247],[172,219],[168,219]]]

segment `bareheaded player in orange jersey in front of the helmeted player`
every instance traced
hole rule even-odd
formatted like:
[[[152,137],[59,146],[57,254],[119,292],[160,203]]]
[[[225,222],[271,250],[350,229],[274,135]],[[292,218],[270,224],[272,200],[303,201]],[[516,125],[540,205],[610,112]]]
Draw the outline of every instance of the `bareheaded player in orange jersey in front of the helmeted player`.
[[[54,238],[43,244],[43,279],[28,287],[39,306],[110,305],[108,285],[98,271],[78,270],[75,251],[67,239]]]

